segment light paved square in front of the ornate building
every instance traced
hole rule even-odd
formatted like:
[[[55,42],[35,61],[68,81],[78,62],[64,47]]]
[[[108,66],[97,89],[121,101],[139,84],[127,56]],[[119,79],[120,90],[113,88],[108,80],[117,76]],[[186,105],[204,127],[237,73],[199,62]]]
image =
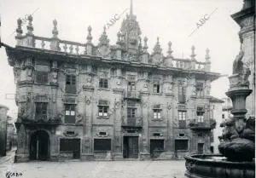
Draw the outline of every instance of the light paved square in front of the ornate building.
[[[115,162],[29,162],[13,164],[13,158],[0,164],[0,177],[21,173],[21,178],[183,178],[184,161]],[[15,176],[10,176],[13,178]]]

